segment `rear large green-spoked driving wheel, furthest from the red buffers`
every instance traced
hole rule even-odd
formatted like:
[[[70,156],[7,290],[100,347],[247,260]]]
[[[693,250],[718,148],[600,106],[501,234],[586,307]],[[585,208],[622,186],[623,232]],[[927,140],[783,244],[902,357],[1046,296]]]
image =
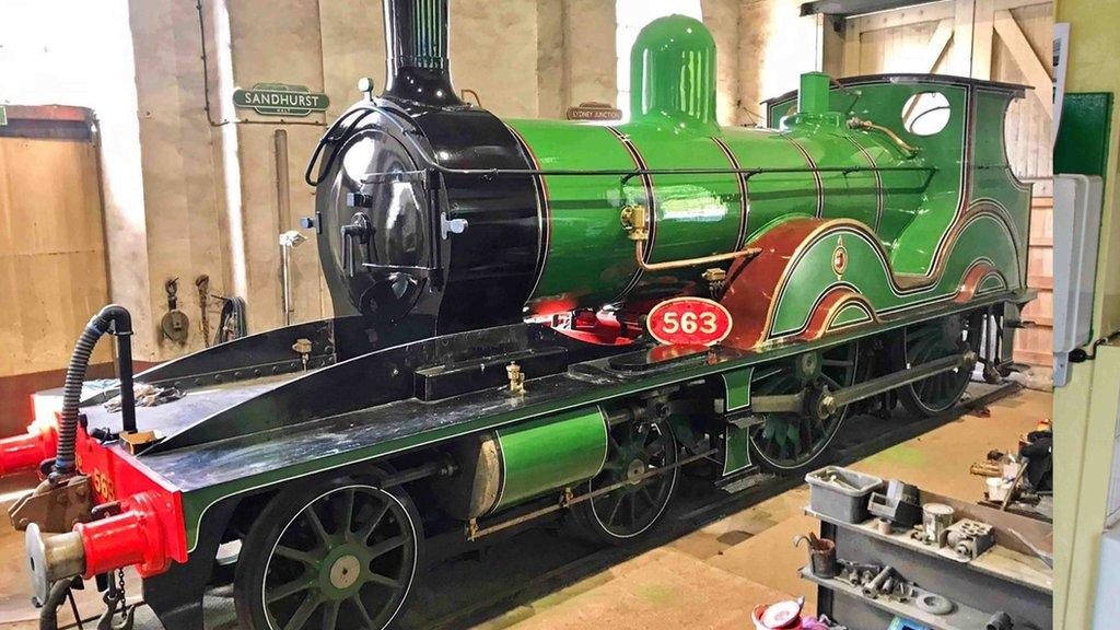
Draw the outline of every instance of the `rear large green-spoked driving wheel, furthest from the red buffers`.
[[[979,322],[973,315],[954,315],[906,326],[895,343],[895,365],[913,365],[980,348]],[[956,405],[972,379],[971,368],[956,368],[898,388],[898,400],[911,414],[930,417]]]

